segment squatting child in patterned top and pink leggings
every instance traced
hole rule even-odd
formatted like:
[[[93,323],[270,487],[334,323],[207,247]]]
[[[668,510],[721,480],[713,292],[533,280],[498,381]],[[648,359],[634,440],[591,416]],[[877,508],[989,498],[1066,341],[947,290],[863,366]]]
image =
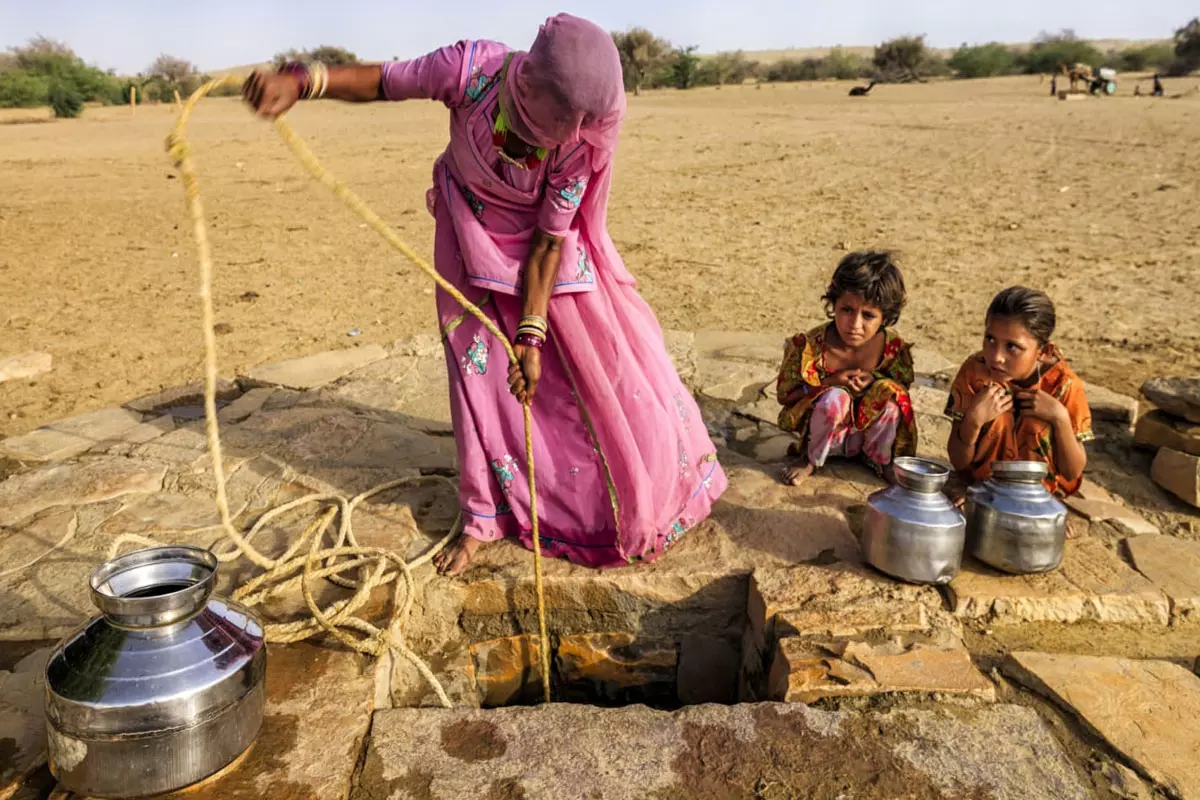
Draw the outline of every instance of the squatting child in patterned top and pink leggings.
[[[859,455],[890,480],[892,459],[917,450],[912,353],[890,330],[904,277],[890,253],[851,253],[823,300],[833,321],[793,336],[779,369],[779,427],[799,434],[784,482],[798,485],[829,456]]]

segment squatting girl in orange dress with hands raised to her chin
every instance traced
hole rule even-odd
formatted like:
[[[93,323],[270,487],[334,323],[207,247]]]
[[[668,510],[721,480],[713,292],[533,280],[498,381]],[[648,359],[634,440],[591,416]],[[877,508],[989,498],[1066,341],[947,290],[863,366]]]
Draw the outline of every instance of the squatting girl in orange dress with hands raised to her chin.
[[[946,407],[950,463],[966,483],[986,480],[997,461],[1040,461],[1046,489],[1079,491],[1092,415],[1054,327],[1054,303],[1033,289],[1004,289],[988,307],[983,350],[959,369]]]

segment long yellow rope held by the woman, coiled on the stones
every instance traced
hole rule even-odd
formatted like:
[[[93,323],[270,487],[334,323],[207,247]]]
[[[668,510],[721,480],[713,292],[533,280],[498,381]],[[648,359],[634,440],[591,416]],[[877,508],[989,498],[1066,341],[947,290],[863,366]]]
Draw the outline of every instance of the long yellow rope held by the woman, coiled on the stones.
[[[408,658],[414,667],[416,667],[426,681],[428,681],[428,684],[433,687],[442,704],[449,708],[450,699],[446,697],[446,693],[438,682],[437,678],[430,670],[428,666],[425,664],[425,662],[421,661],[421,658],[404,643],[403,626],[408,618],[408,613],[412,609],[414,599],[412,571],[415,567],[430,561],[436,553],[445,547],[456,533],[460,533],[462,516],[460,513],[460,517],[455,521],[450,533],[446,534],[442,541],[425,552],[420,558],[409,563],[404,560],[402,554],[388,548],[361,547],[354,537],[353,513],[359,504],[370,497],[379,494],[380,492],[386,492],[415,481],[443,481],[446,483],[450,483],[450,481],[444,477],[403,479],[378,486],[350,500],[338,495],[308,495],[277,509],[272,509],[268,513],[263,515],[263,517],[254,523],[245,536],[234,527],[233,518],[229,513],[229,499],[226,492],[226,474],[221,455],[221,435],[217,426],[216,413],[217,350],[212,312],[212,253],[209,247],[208,229],[204,223],[204,206],[200,201],[199,181],[196,174],[196,166],[192,162],[191,146],[187,143],[187,121],[191,118],[196,104],[210,91],[226,84],[240,84],[241,82],[242,78],[230,76],[210,80],[197,89],[184,103],[182,110],[179,114],[179,120],[175,122],[170,136],[167,137],[167,151],[170,154],[170,157],[179,168],[180,176],[182,178],[184,191],[187,197],[187,207],[192,218],[192,231],[196,236],[197,255],[200,264],[200,302],[204,314],[204,416],[209,440],[209,452],[212,458],[212,475],[216,481],[217,510],[221,515],[221,527],[224,530],[226,539],[228,540],[227,548],[218,553],[218,558],[222,561],[228,561],[244,557],[254,566],[264,570],[262,575],[258,575],[234,593],[234,600],[239,600],[246,604],[253,606],[262,603],[272,596],[293,589],[296,583],[299,583],[311,618],[295,622],[268,625],[265,632],[269,642],[299,642],[319,633],[320,631],[325,631],[336,637],[340,642],[344,643],[347,646],[360,652],[378,656],[388,649],[395,649]],[[300,162],[308,169],[313,178],[332,190],[334,194],[341,198],[352,211],[359,215],[364,222],[383,236],[389,245],[400,251],[409,261],[415,264],[426,275],[433,278],[433,281],[446,294],[454,297],[468,313],[475,317],[475,319],[478,319],[484,327],[486,327],[492,336],[494,336],[504,345],[504,351],[508,354],[509,361],[511,363],[516,363],[516,355],[512,351],[512,344],[509,342],[508,337],[500,332],[496,324],[488,319],[487,314],[467,300],[467,297],[464,297],[462,293],[445,278],[438,275],[437,271],[425,261],[425,259],[418,255],[413,248],[406,245],[403,240],[401,240],[400,236],[397,236],[396,233],[379,218],[379,215],[372,211],[366,203],[354,194],[354,192],[352,192],[343,182],[334,178],[287,122],[282,119],[277,119],[275,125],[280,136],[288,144]],[[550,639],[546,633],[546,601],[542,590],[541,539],[539,536],[538,527],[538,485],[535,480],[533,457],[533,416],[528,403],[523,404],[523,411],[526,468],[529,475],[529,518],[533,529],[534,585],[538,594],[538,627],[541,645],[541,679],[545,702],[548,703]],[[450,485],[452,486],[452,483]],[[251,543],[258,531],[262,530],[269,522],[287,511],[312,503],[323,504],[328,507],[307,528],[307,530],[305,530],[305,533],[287,548],[282,555],[271,558],[259,552]],[[332,537],[331,542],[325,543],[325,534],[332,524],[335,517],[340,517],[337,534]],[[128,541],[145,542],[150,540],[144,540],[138,536],[124,536],[114,542],[114,552],[120,548],[122,543]],[[214,549],[218,548],[220,545]],[[395,570],[389,572],[389,566],[395,566]],[[358,579],[343,577],[343,573],[350,572],[352,570],[358,571]],[[398,577],[403,577],[403,582],[398,581]],[[348,600],[335,602],[328,608],[320,608],[312,594],[312,585],[314,581],[322,578],[326,578],[340,587],[353,589],[354,595]],[[389,619],[386,630],[380,630],[371,622],[354,616],[355,612],[366,604],[372,590],[377,587],[391,583],[392,581],[395,581],[396,587],[392,593],[391,618]],[[350,633],[352,631],[354,633]]]

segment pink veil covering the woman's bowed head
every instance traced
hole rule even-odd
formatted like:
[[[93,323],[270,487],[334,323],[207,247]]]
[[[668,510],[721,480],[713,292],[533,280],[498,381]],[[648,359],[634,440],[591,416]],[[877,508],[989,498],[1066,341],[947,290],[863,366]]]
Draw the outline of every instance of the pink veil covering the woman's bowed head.
[[[553,149],[583,139],[611,154],[625,116],[625,83],[612,36],[570,14],[551,17],[504,80],[505,116],[524,142]]]

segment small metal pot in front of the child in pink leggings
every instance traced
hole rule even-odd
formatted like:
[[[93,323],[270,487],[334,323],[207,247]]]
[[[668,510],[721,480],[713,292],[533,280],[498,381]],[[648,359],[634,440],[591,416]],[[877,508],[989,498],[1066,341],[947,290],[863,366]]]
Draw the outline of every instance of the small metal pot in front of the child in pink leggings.
[[[924,458],[896,458],[896,486],[866,499],[866,563],[911,583],[949,583],[962,564],[966,521],[942,494],[950,470]]]

